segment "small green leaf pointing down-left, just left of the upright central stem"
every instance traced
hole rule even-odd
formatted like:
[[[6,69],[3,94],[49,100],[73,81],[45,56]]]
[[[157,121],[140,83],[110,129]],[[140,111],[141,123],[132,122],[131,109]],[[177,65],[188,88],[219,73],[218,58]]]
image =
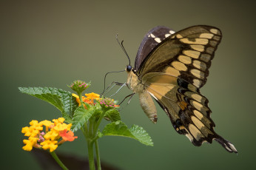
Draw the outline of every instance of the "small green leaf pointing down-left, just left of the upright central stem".
[[[73,122],[72,122],[72,131],[75,132],[78,129],[80,129],[82,126],[84,126],[84,123],[87,123],[87,121],[90,119],[90,117],[93,114],[93,109],[90,108],[89,105],[87,105],[87,109],[84,109],[84,106],[79,106],[74,113],[73,116]]]

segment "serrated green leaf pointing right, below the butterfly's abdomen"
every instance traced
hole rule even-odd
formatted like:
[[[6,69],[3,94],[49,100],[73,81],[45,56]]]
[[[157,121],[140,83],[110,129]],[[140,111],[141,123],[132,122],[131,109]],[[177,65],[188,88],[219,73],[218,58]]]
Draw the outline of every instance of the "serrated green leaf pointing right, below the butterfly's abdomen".
[[[107,124],[107,126],[104,127],[102,134],[104,136],[131,137],[144,145],[153,146],[151,137],[142,127],[133,125],[132,128],[128,129],[128,127],[120,120]]]

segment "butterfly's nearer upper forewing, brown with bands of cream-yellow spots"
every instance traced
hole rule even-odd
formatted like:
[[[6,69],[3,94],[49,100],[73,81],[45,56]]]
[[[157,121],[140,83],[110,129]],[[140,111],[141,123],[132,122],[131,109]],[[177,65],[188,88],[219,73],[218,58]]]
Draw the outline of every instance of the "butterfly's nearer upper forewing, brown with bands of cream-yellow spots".
[[[206,84],[211,60],[221,40],[218,28],[194,26],[165,38],[144,59],[137,75],[164,72],[200,88]]]

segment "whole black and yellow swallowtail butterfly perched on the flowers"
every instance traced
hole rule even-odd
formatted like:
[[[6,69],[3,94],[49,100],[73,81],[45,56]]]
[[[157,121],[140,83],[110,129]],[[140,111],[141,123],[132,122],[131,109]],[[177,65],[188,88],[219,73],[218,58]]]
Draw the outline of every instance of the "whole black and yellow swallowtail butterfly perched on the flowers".
[[[164,109],[178,134],[195,146],[216,140],[228,152],[235,146],[214,131],[208,100],[200,88],[206,84],[209,67],[220,44],[217,27],[197,25],[175,31],[154,27],[144,36],[135,58],[127,65],[127,86],[137,93],[147,117],[158,120],[155,103]]]

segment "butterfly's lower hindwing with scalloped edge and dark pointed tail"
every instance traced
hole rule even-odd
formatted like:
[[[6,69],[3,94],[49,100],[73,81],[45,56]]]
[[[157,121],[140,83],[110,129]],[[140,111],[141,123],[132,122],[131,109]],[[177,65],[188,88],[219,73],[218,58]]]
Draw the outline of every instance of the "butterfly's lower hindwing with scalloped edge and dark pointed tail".
[[[149,73],[142,80],[146,91],[169,116],[176,132],[186,135],[195,146],[201,146],[203,142],[212,143],[215,139],[228,152],[236,152],[232,143],[214,131],[215,123],[210,118],[207,98],[197,87],[189,89],[193,85],[182,81],[181,78],[158,72]]]

